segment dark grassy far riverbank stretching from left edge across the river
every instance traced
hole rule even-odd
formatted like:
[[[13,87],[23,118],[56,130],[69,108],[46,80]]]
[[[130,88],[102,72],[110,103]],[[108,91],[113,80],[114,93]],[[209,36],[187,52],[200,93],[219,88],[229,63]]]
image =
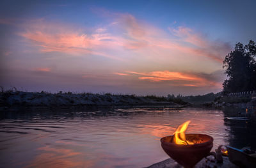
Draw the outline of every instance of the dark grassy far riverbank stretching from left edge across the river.
[[[188,106],[179,98],[159,96],[112,95],[93,93],[41,93],[4,91],[0,93],[1,107],[84,107],[104,105],[168,105]]]

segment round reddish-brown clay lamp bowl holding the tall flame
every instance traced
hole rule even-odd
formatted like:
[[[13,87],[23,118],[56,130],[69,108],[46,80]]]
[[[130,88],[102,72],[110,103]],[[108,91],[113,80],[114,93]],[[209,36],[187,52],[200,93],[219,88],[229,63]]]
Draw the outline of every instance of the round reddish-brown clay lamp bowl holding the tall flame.
[[[186,140],[194,144],[175,144],[173,136],[161,138],[161,146],[167,155],[184,167],[193,167],[212,149],[213,138],[209,135],[186,134]]]

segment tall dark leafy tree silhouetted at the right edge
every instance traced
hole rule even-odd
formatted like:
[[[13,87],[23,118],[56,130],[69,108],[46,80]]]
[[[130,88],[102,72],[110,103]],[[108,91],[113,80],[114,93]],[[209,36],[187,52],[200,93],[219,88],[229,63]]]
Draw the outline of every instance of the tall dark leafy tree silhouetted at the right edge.
[[[237,43],[223,61],[228,76],[223,82],[224,93],[252,91],[256,89],[256,45],[252,40],[248,45]]]

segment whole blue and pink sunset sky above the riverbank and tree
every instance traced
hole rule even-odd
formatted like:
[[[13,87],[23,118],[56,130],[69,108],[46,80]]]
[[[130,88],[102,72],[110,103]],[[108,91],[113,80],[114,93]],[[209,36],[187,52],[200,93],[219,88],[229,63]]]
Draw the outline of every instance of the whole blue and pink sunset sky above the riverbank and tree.
[[[1,1],[0,86],[136,95],[218,92],[256,40],[256,1]]]

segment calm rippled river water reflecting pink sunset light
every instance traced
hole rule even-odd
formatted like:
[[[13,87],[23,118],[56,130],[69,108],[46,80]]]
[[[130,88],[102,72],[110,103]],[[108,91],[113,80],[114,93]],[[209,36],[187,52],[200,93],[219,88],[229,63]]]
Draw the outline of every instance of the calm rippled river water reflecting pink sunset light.
[[[159,139],[191,120],[187,133],[256,149],[249,109],[99,108],[1,112],[0,167],[147,167],[168,156]]]

